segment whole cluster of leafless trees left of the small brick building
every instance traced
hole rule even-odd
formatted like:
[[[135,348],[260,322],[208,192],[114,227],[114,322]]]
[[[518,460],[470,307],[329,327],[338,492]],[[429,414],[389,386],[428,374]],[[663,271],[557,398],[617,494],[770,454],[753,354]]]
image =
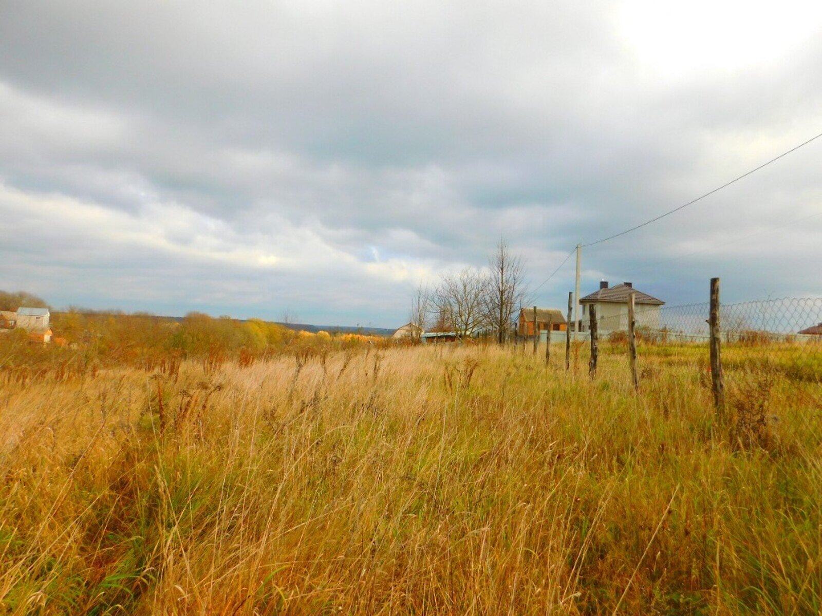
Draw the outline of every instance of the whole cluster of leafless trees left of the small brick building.
[[[501,240],[487,267],[469,266],[442,274],[432,287],[419,285],[409,317],[427,331],[454,332],[463,338],[484,334],[501,343],[510,338],[515,315],[529,300],[524,261]]]

